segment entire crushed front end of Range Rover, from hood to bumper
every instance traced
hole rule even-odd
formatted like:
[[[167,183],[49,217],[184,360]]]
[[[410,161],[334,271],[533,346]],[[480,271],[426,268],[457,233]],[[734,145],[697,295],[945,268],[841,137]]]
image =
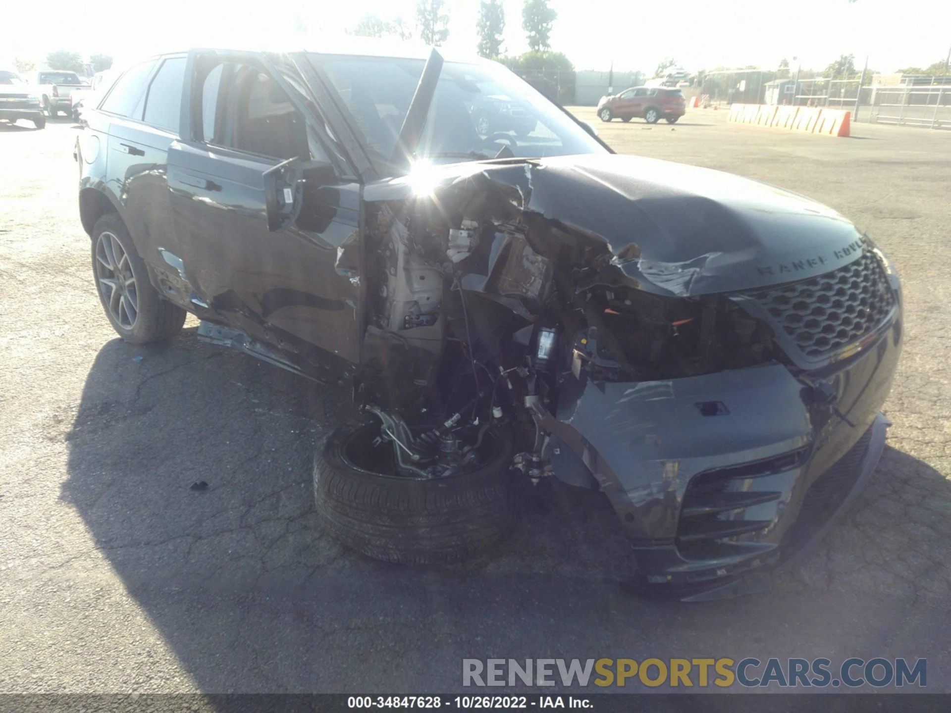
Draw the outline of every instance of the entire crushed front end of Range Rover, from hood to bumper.
[[[671,166],[503,161],[422,195],[368,187],[359,390],[410,420],[504,425],[535,482],[604,491],[639,588],[703,600],[767,587],[874,469],[901,291],[827,208]]]

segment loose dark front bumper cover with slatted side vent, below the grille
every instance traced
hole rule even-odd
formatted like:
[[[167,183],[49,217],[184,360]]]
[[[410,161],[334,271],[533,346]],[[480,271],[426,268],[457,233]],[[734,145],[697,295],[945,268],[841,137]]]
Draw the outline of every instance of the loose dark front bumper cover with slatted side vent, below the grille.
[[[569,382],[546,428],[555,475],[596,479],[637,553],[636,588],[700,601],[768,588],[874,470],[901,312],[863,351],[640,383]]]

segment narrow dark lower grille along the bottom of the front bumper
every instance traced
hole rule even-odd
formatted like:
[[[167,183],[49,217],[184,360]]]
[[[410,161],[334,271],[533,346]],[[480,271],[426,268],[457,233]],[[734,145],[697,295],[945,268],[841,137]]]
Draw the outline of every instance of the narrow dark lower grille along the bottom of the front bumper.
[[[820,475],[805,492],[803,505],[799,509],[796,522],[786,530],[783,537],[784,555],[795,553],[812,539],[812,536],[828,522],[839,510],[845,497],[862,473],[862,462],[868,443],[872,439],[872,429],[852,446],[829,470]]]

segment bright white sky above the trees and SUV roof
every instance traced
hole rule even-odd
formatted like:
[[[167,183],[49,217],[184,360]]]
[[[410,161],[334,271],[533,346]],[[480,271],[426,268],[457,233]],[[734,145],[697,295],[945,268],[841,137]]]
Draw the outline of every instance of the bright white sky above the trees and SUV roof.
[[[193,45],[308,46],[307,34],[340,35],[367,13],[415,23],[415,0],[9,0],[0,10],[0,67],[42,61],[54,49],[122,63]],[[474,52],[478,0],[447,0],[447,48]],[[505,46],[524,51],[521,0],[504,0]],[[664,57],[689,70],[776,67],[798,56],[821,69],[840,54],[880,71],[926,67],[951,46],[951,0],[551,0],[552,47],[579,69],[652,71]],[[301,32],[300,28],[306,29]],[[313,40],[313,36],[311,37]],[[318,47],[312,47],[318,48]]]

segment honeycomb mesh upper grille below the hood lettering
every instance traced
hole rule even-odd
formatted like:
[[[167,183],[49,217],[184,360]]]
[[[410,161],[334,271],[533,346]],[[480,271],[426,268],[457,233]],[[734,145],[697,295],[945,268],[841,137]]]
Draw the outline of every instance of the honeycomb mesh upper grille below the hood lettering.
[[[838,270],[749,296],[810,358],[834,354],[875,331],[895,305],[882,265],[867,247]]]

